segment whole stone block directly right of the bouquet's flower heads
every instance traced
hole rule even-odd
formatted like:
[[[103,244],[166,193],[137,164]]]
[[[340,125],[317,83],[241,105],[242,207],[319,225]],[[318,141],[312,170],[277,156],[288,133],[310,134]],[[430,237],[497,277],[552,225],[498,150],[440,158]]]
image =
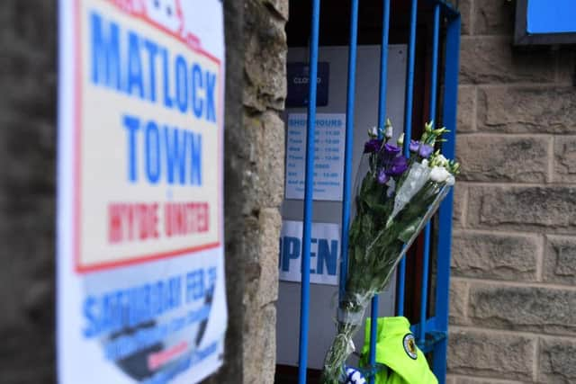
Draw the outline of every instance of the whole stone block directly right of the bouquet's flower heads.
[[[458,138],[460,180],[544,183],[550,138],[466,135]]]

